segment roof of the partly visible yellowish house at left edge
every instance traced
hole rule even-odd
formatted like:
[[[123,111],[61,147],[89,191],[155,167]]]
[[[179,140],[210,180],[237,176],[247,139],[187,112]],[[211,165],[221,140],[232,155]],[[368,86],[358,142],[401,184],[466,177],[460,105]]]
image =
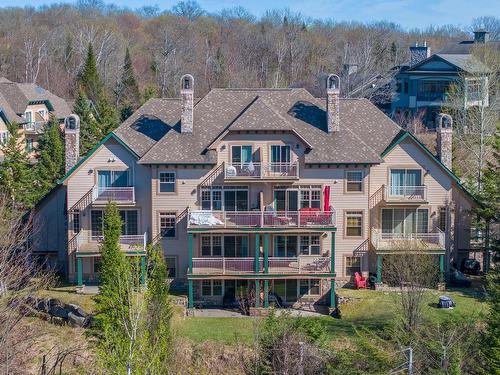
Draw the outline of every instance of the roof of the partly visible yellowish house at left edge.
[[[71,113],[68,103],[34,83],[16,83],[5,77],[0,78],[0,110],[10,122],[22,122],[18,115],[24,114],[29,102],[48,100],[54,108],[57,118],[64,118]],[[15,114],[15,115],[13,115]]]

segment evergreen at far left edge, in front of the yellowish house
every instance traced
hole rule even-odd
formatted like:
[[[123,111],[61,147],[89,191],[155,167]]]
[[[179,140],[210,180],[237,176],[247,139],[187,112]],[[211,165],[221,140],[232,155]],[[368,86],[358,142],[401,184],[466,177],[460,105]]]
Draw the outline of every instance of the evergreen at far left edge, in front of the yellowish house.
[[[31,163],[23,147],[20,147],[19,127],[9,124],[9,140],[2,148],[4,160],[0,163],[0,188],[16,203],[26,208],[36,201]]]

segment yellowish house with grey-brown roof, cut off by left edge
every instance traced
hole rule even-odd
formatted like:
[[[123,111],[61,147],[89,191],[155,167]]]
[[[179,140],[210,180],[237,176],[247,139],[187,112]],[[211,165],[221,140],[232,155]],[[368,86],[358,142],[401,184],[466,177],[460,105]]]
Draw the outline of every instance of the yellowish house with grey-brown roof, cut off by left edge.
[[[34,157],[38,138],[51,115],[60,122],[71,113],[66,101],[34,83],[16,83],[0,77],[0,161],[1,146],[10,134],[7,124],[19,125],[20,147]]]

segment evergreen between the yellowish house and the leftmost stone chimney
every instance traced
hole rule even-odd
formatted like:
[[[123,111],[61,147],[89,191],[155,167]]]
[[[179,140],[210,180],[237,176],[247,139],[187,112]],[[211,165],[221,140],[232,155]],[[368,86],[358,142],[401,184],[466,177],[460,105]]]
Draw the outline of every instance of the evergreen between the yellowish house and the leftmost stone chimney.
[[[38,199],[46,195],[64,174],[64,142],[57,119],[50,118],[38,141],[38,163],[34,167]],[[37,200],[38,200],[37,199]]]

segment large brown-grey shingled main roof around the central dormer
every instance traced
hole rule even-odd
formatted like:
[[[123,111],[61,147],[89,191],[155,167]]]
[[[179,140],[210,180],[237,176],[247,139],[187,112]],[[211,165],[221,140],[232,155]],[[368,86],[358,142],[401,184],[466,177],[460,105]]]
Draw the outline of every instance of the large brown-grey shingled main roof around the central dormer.
[[[291,131],[312,146],[307,163],[379,163],[401,130],[366,99],[340,100],[340,131],[328,133],[324,99],[305,89],[213,89],[180,133],[180,100],[151,99],[115,130],[142,164],[215,163],[207,148],[225,132]]]

